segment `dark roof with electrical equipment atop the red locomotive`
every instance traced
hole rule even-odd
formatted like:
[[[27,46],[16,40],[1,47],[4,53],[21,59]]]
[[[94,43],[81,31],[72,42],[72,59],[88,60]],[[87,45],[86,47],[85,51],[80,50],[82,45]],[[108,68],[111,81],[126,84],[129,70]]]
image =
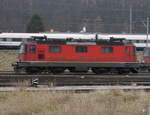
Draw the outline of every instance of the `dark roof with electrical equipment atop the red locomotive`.
[[[127,45],[132,44],[127,42],[125,38],[113,38],[110,39],[47,39],[44,37],[32,37],[33,39],[30,41],[32,43],[37,44],[59,44],[59,45]]]

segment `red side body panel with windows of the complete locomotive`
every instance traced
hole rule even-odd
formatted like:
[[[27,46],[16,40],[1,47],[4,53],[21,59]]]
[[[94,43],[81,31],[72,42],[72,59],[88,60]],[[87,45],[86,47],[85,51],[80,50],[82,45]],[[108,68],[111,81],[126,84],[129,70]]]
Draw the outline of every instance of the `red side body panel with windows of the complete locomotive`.
[[[25,44],[26,45],[26,44]],[[134,46],[27,44],[20,61],[136,62]]]

